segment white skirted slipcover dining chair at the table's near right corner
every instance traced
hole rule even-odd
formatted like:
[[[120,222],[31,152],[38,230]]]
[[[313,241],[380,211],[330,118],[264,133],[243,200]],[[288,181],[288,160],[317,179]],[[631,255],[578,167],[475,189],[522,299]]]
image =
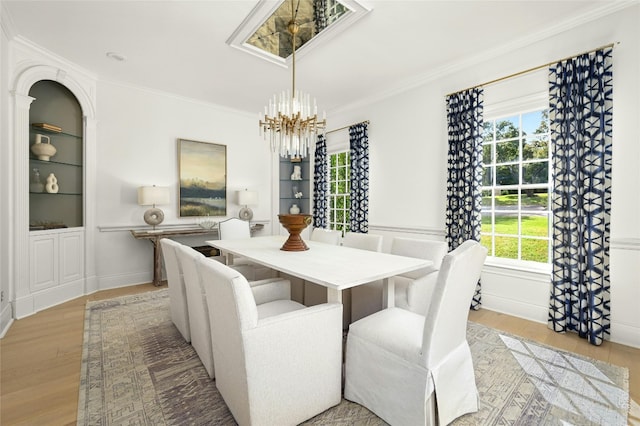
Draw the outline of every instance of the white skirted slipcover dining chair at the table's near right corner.
[[[426,317],[387,308],[351,324],[344,396],[392,425],[446,425],[478,410],[467,320],[487,250],[447,254]]]

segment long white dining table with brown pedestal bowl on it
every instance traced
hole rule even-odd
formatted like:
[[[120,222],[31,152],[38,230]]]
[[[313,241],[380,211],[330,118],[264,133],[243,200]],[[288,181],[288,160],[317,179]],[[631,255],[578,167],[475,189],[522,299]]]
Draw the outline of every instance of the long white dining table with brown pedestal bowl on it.
[[[327,301],[342,303],[342,290],[383,280],[384,306],[394,305],[390,278],[433,265],[425,259],[305,241],[309,250],[280,250],[286,236],[206,241],[212,247],[327,288]]]

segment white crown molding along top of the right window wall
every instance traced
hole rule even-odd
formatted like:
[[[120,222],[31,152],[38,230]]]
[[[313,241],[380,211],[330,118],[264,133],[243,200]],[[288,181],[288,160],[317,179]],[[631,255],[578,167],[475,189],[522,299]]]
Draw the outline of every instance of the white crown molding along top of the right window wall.
[[[368,106],[372,103],[376,103],[382,101],[384,99],[388,99],[390,97],[399,95],[401,93],[410,91],[420,86],[424,86],[427,83],[431,83],[433,81],[437,81],[441,78],[444,78],[448,75],[463,71],[465,69],[472,68],[475,65],[481,64],[483,62],[487,62],[491,59],[495,59],[505,54],[515,52],[521,50],[527,46],[530,46],[536,42],[545,40],[552,36],[561,34],[570,29],[576,28],[580,25],[584,25],[586,23],[595,21],[597,19],[606,17],[613,13],[616,13],[620,10],[624,10],[626,8],[637,6],[638,0],[624,0],[624,1],[614,1],[614,2],[605,2],[602,6],[593,9],[589,12],[583,13],[582,15],[578,15],[567,19],[563,22],[560,22],[554,26],[546,28],[545,30],[539,31],[537,33],[532,33],[525,37],[521,37],[519,39],[515,39],[508,43],[502,44],[498,47],[494,47],[489,50],[482,51],[477,55],[470,56],[461,61],[457,61],[454,63],[449,63],[440,68],[435,69],[432,72],[419,75],[417,77],[408,78],[402,82],[400,82],[395,87],[379,92],[372,96],[360,99],[353,103],[341,106],[339,108],[327,111],[327,114],[341,114],[346,111],[355,110],[358,108],[362,108]],[[613,40],[611,40],[613,42]],[[470,83],[469,85],[473,85],[474,83]],[[445,91],[446,92],[446,91]]]

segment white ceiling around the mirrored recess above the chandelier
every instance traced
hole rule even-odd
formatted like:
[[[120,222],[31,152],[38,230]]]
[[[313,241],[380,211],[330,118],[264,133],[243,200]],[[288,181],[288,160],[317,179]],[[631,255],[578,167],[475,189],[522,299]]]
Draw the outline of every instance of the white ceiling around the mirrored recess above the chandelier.
[[[23,37],[99,79],[257,113],[291,71],[227,44],[258,0],[7,1]],[[276,4],[277,1],[269,1]],[[553,34],[607,13],[612,0],[377,1],[339,34],[296,55],[296,86],[335,111],[452,67],[479,51]],[[510,47],[511,46],[511,47]],[[126,57],[109,58],[107,52]],[[480,83],[480,82],[479,82]]]

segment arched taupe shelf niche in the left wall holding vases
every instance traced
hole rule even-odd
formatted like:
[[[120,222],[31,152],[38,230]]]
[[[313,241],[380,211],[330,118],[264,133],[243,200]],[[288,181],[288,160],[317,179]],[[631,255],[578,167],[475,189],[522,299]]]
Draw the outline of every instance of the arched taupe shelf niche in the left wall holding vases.
[[[82,108],[76,97],[63,85],[52,80],[41,80],[31,86],[29,96],[35,100],[29,109],[29,181],[34,169],[40,173],[40,182],[46,186],[53,173],[58,180],[58,193],[29,193],[29,229],[77,228],[84,225],[84,143]],[[48,123],[62,131],[51,131],[34,126]],[[49,161],[39,160],[31,152],[40,134],[49,138],[56,153]],[[43,142],[44,143],[44,142]]]

